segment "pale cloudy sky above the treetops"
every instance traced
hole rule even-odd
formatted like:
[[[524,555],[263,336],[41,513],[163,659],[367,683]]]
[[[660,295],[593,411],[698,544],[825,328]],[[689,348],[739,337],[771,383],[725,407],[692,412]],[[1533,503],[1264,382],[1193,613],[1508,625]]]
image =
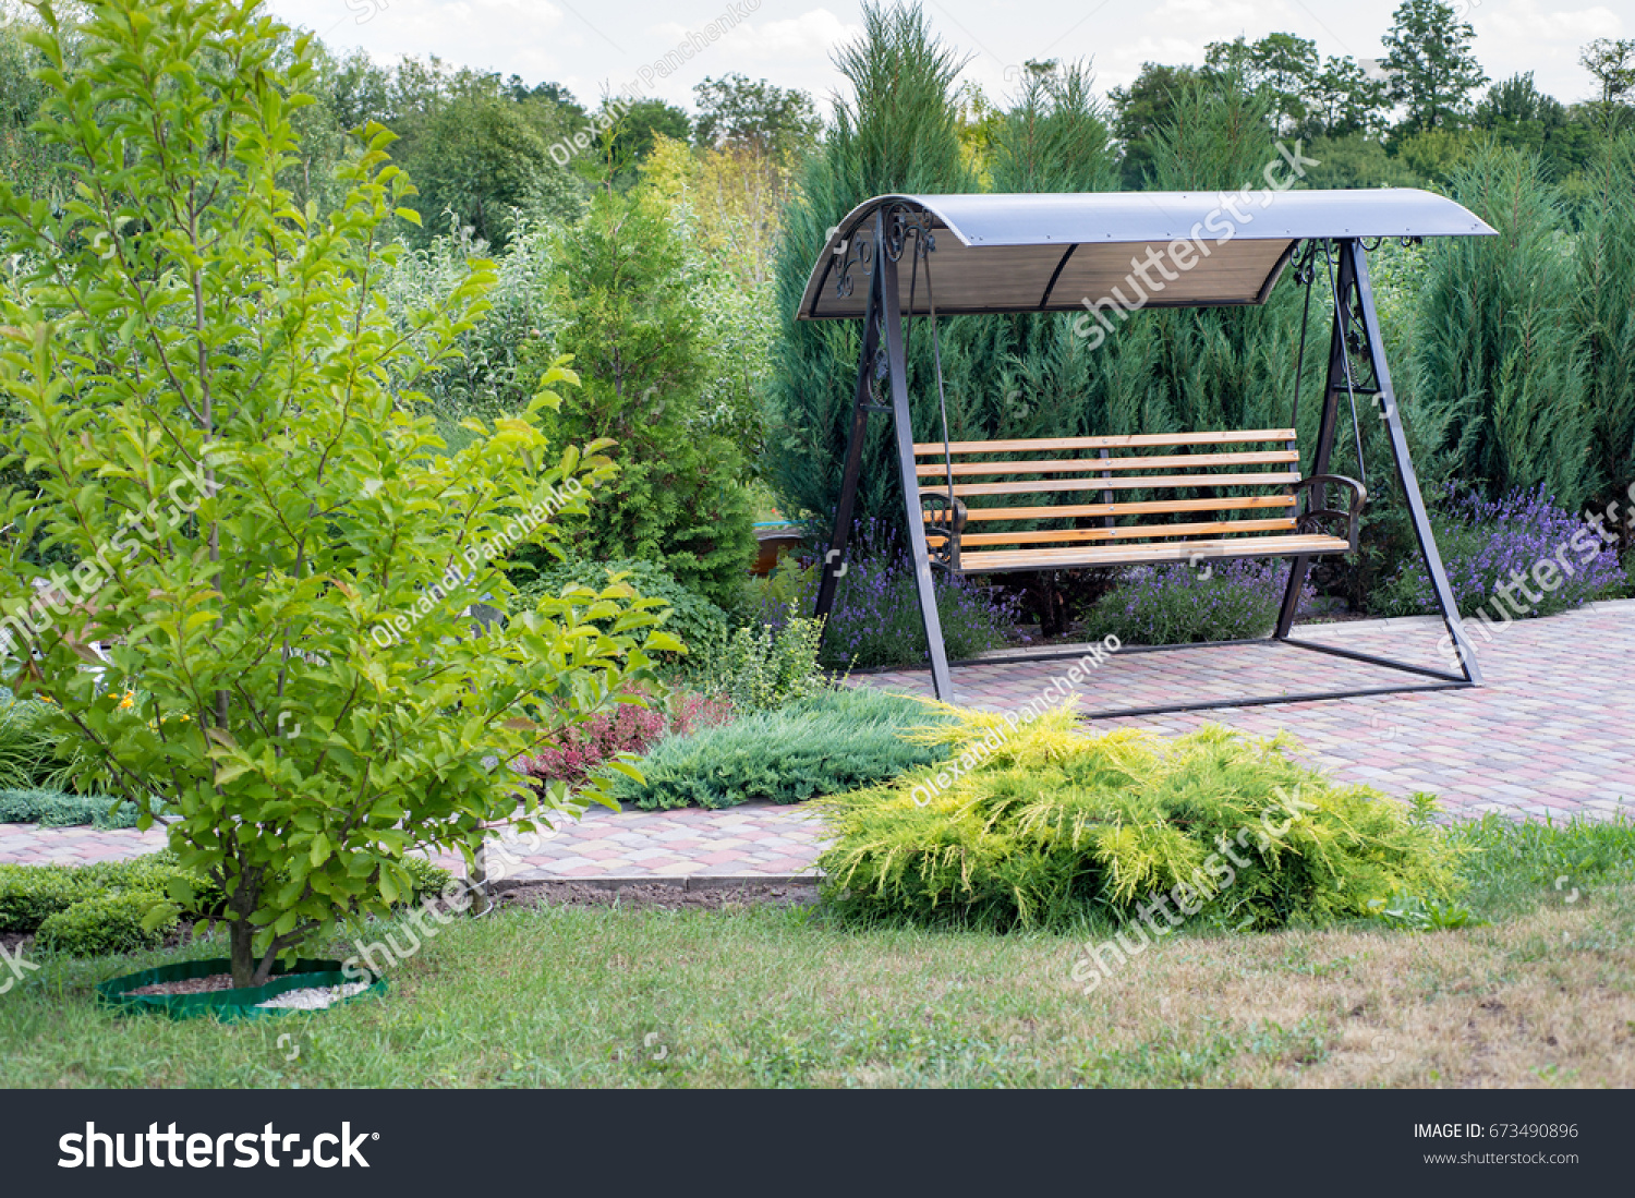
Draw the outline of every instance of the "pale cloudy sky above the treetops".
[[[1635,36],[1635,0],[1458,2],[1488,75],[1532,70],[1563,101],[1592,92],[1578,65],[1584,42]],[[1315,39],[1324,56],[1373,59],[1396,3],[925,0],[925,11],[945,41],[971,56],[965,77],[1006,96],[1028,59],[1091,59],[1109,88],[1135,78],[1144,60],[1202,62],[1210,41],[1252,41],[1274,29]],[[831,51],[862,26],[852,0],[271,0],[271,8],[332,49],[361,46],[379,62],[435,54],[530,83],[554,80],[580,100],[636,90],[683,106],[693,83],[731,70],[827,101],[840,83]],[[692,34],[705,49],[661,72],[657,64]]]

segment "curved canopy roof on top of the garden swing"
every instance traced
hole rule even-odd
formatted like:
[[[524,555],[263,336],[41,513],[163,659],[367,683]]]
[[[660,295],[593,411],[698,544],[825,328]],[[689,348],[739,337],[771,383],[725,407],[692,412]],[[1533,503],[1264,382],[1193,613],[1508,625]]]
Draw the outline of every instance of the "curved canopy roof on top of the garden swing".
[[[938,314],[1261,304],[1313,237],[1472,237],[1494,230],[1445,196],[1357,191],[1086,191],[875,196],[829,232],[796,314],[862,317],[881,208],[924,214]],[[940,234],[950,235],[940,235]],[[903,311],[911,311],[904,263]],[[912,314],[930,311],[925,279]]]

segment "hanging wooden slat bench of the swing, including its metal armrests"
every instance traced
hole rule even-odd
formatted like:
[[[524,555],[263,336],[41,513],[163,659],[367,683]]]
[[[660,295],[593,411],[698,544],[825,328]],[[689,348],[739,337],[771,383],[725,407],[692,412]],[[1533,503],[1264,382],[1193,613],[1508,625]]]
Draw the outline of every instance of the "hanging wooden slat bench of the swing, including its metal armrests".
[[[1301,477],[1292,428],[955,441],[947,456],[927,441],[914,456],[932,561],[961,574],[1349,552],[1367,500],[1352,479]],[[1347,512],[1324,507],[1329,485],[1351,489]],[[1073,502],[1084,492],[1100,502]]]

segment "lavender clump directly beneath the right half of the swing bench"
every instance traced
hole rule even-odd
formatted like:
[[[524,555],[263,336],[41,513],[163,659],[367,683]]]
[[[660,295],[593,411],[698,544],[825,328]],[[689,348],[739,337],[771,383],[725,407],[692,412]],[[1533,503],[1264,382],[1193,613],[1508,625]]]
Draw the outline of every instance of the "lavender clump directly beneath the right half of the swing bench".
[[[1086,619],[1084,637],[1117,636],[1127,644],[1248,641],[1277,624],[1288,585],[1288,562],[1251,559],[1192,565],[1143,565]],[[1316,592],[1308,585],[1301,603]]]

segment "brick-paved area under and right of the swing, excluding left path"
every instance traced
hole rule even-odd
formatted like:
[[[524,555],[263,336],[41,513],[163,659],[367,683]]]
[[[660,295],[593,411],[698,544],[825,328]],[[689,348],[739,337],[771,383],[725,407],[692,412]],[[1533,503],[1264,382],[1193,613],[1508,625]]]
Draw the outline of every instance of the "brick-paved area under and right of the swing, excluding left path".
[[[1431,618],[1308,624],[1305,641],[1450,668]],[[1390,794],[1434,791],[1450,812],[1476,816],[1635,816],[1635,601],[1596,603],[1522,619],[1483,642],[1472,633],[1485,685],[1324,703],[1221,708],[1177,716],[1095,721],[1176,734],[1220,722],[1256,735],[1292,732],[1308,760]],[[1020,708],[1071,660],[955,667],[955,698],[988,711]],[[1081,709],[1202,703],[1311,693],[1414,678],[1279,646],[1231,646],[1113,655],[1079,685]],[[857,682],[930,695],[921,670]]]

